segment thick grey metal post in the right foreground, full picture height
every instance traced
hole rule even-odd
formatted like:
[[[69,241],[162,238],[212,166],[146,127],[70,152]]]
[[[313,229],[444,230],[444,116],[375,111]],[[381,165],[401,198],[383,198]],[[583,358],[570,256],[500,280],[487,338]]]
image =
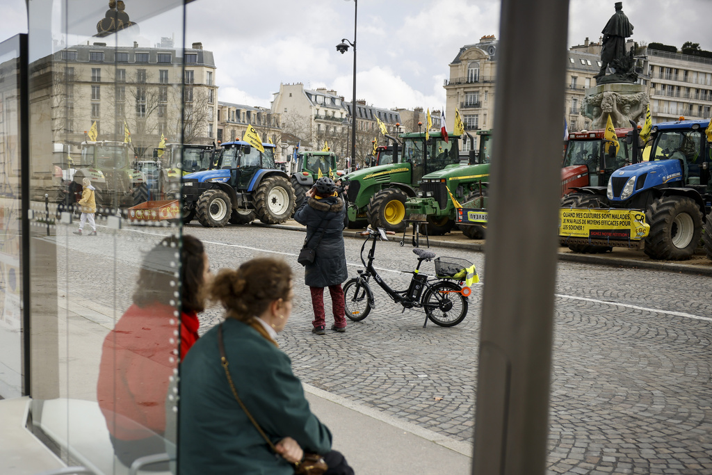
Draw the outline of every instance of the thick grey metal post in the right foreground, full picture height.
[[[568,4],[502,0],[473,474],[545,473]]]

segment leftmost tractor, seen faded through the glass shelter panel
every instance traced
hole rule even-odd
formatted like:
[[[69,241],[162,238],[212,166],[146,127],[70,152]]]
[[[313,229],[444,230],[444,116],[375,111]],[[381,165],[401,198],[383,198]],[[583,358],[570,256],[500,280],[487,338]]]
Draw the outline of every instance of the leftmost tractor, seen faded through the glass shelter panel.
[[[146,175],[135,166],[130,145],[125,142],[82,142],[80,165],[75,166],[68,187],[68,204],[81,198],[84,177],[92,180],[100,208],[128,208],[147,201]]]

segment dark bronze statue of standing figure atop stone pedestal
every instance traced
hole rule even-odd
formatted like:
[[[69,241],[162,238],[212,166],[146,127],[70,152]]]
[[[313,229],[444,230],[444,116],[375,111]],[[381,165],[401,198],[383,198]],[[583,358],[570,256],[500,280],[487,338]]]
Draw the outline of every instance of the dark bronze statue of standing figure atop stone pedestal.
[[[623,3],[615,3],[616,12],[608,20],[603,31],[603,48],[601,50],[601,71],[594,76],[597,84],[605,83],[635,83],[638,78],[635,72],[634,51],[625,53],[626,38],[633,35],[633,25],[623,13]],[[606,75],[608,67],[615,73]]]

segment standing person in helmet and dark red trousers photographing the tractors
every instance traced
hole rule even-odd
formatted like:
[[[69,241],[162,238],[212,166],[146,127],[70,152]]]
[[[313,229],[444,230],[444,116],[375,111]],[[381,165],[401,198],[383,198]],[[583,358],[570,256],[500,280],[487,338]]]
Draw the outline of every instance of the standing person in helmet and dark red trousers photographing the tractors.
[[[312,332],[325,334],[325,287],[329,288],[331,294],[334,315],[331,329],[345,332],[344,291],[341,284],[348,278],[343,235],[346,207],[337,196],[334,180],[329,177],[318,179],[306,197],[295,212],[294,219],[307,226],[305,241],[316,251],[314,262],[304,268],[304,283],[309,286],[314,309]]]

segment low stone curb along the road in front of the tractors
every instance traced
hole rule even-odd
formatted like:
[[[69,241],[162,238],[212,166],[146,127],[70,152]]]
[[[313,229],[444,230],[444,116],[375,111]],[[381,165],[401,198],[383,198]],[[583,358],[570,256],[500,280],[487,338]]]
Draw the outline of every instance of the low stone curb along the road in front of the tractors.
[[[288,231],[300,231],[306,232],[304,226],[291,226],[289,224],[264,224],[258,221],[253,221],[252,226],[260,227],[271,227],[278,229],[286,229]],[[358,233],[360,231],[351,231],[344,229],[344,237],[351,239],[363,239]],[[394,236],[397,238],[398,235]],[[402,235],[401,235],[402,236]],[[406,235],[406,239],[408,236]],[[393,239],[392,242],[400,242],[400,239]],[[481,242],[473,243],[461,243],[461,242],[451,242],[443,241],[437,238],[430,239],[430,245],[436,247],[444,247],[449,249],[463,249],[465,251],[475,251],[484,252],[485,245]],[[558,252],[558,258],[560,261],[567,262],[577,262],[585,264],[596,264],[599,266],[611,266],[611,267],[627,267],[627,268],[644,268],[651,269],[654,271],[666,271],[666,272],[676,272],[676,273],[687,273],[697,276],[712,276],[712,266],[709,267],[699,267],[691,266],[689,264],[680,263],[669,263],[669,262],[658,262],[658,261],[637,261],[635,259],[622,259],[616,257],[602,257],[595,256],[592,254],[572,254],[569,252]]]

